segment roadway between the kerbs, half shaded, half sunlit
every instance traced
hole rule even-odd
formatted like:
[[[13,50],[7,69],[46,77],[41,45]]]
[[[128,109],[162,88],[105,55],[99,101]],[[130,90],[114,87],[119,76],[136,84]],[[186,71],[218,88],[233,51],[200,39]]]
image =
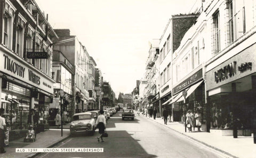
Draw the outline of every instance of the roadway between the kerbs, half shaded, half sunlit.
[[[221,157],[204,146],[143,116],[122,120],[117,112],[107,121],[109,137],[98,143],[94,136],[77,135],[55,146],[103,148],[103,153],[42,153],[37,157]]]

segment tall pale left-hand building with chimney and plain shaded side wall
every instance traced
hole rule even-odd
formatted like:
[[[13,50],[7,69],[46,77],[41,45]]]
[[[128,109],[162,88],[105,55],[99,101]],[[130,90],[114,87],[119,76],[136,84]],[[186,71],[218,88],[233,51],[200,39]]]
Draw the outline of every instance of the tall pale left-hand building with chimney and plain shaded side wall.
[[[89,101],[89,65],[90,55],[85,46],[76,36],[70,36],[69,29],[55,29],[59,36],[54,40],[53,49],[61,51],[73,65],[74,73],[74,111],[73,113],[87,110]]]

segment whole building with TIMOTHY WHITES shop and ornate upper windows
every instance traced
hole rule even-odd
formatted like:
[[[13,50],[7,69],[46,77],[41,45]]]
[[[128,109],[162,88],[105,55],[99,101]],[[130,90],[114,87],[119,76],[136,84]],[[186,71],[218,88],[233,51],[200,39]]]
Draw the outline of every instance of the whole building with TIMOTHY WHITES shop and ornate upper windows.
[[[51,43],[58,36],[33,0],[1,1],[0,28],[0,103],[10,114],[6,121],[12,131],[21,132],[28,127],[29,110],[35,109],[39,130],[44,130],[55,82]]]

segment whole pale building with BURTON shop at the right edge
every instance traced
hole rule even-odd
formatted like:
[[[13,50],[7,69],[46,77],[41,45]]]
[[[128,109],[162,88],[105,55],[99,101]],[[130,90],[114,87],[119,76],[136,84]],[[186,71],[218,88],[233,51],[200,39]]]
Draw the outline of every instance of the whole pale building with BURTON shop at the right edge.
[[[204,3],[206,37],[211,37],[205,43],[211,56],[206,62],[207,131],[251,136],[256,127],[254,6],[255,1]]]

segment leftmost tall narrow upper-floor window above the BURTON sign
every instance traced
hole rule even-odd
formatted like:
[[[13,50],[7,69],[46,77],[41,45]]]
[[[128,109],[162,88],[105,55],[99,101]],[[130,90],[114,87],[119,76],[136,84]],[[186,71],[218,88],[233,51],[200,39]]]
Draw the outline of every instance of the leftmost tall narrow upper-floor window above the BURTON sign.
[[[220,14],[219,11],[213,14],[213,53],[220,52]]]

